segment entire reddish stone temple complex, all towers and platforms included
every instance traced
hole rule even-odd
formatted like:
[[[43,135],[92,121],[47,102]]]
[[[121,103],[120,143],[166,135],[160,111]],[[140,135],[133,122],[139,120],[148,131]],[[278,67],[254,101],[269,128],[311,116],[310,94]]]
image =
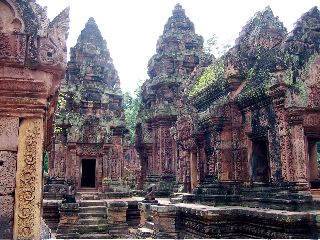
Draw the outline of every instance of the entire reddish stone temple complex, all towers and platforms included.
[[[67,62],[69,9],[0,13],[1,239],[319,238],[317,7],[289,33],[266,7],[214,57],[177,4],[134,144],[93,18]]]

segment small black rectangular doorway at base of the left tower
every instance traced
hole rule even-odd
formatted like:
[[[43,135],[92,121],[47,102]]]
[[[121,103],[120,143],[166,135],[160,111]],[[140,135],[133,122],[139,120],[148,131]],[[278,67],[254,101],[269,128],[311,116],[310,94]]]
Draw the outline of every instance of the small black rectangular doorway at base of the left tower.
[[[96,187],[96,160],[82,159],[81,187]]]

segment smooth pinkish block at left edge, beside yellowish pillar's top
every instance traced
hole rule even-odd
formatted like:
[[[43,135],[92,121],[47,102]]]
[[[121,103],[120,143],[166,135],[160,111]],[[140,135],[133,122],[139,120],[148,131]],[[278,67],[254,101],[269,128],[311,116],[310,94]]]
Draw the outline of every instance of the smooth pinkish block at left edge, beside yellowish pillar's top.
[[[17,151],[19,118],[0,117],[0,150]]]

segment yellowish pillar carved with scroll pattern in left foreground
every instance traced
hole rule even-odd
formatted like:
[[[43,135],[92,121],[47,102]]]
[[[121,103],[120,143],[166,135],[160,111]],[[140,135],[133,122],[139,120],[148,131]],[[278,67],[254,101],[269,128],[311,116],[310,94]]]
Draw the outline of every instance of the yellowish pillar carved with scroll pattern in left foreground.
[[[42,201],[43,120],[23,119],[19,128],[14,239],[39,239]]]

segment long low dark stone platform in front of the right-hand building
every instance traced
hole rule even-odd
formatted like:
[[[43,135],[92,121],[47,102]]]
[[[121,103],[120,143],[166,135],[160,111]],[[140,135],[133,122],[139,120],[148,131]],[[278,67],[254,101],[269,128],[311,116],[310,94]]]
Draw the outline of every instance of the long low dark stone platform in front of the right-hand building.
[[[137,238],[318,238],[320,211],[169,203],[142,207]]]

